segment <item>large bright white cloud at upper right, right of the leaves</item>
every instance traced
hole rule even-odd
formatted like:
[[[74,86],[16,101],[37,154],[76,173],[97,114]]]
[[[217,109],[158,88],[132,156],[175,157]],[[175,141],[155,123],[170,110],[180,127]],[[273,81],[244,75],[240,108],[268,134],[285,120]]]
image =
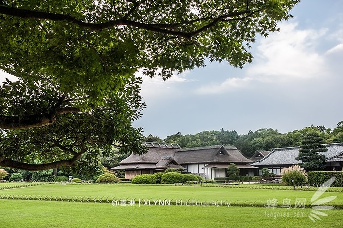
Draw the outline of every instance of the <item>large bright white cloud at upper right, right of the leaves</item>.
[[[261,40],[247,75],[263,82],[290,82],[322,75],[325,59],[315,49],[327,29],[299,30],[297,23],[281,23],[280,27],[279,33]]]

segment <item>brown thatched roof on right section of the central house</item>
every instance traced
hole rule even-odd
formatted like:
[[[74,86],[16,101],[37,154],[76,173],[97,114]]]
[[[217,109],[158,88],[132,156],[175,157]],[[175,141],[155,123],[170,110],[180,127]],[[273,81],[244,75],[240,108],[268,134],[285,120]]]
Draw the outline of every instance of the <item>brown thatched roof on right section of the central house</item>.
[[[205,146],[180,149],[175,152],[179,164],[196,163],[251,163],[233,146]]]

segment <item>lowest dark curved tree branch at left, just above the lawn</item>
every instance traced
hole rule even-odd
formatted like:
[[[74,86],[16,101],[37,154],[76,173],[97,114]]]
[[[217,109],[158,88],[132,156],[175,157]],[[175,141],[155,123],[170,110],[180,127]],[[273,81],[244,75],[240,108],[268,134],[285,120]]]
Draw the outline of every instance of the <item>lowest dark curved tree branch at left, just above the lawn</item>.
[[[72,166],[75,161],[80,158],[83,152],[80,152],[73,156],[73,158],[68,160],[60,160],[46,164],[27,164],[18,161],[14,161],[8,158],[0,157],[0,166],[9,167],[14,169],[24,169],[27,171],[38,171],[38,170],[47,170],[47,169],[54,169],[60,166]]]

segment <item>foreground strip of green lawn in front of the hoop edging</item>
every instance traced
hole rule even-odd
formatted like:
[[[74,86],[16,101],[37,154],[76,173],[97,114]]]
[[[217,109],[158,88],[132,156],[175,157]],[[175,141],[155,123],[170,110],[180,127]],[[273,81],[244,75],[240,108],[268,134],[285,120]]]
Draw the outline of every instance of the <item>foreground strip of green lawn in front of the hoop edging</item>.
[[[1,200],[1,227],[342,227],[341,210],[325,211],[316,223],[310,209],[198,206],[118,206],[111,204]],[[270,213],[273,213],[272,215]],[[276,217],[274,218],[274,213]],[[278,214],[277,214],[278,213]],[[285,215],[288,217],[280,217]],[[277,216],[278,215],[278,216]],[[299,216],[299,217],[298,217]]]

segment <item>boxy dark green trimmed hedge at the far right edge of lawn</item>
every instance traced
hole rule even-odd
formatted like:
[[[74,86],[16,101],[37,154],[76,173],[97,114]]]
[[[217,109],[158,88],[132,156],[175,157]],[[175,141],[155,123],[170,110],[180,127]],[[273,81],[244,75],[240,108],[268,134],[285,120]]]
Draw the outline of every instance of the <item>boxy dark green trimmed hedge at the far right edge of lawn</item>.
[[[343,187],[343,171],[313,171],[307,172],[309,185],[317,186],[325,183],[331,177],[336,177],[331,187]]]

